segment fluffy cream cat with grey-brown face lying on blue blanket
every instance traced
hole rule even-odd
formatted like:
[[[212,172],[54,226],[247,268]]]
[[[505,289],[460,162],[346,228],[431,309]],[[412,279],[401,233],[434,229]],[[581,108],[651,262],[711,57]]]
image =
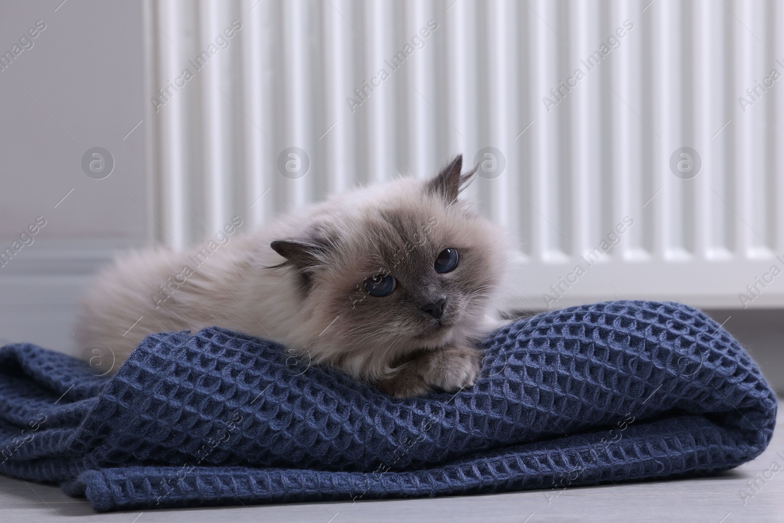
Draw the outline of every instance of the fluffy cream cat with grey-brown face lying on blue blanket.
[[[477,342],[506,323],[510,242],[458,198],[477,171],[462,169],[456,156],[430,180],[299,209],[222,242],[198,267],[165,248],[120,258],[82,300],[78,343],[122,363],[149,333],[216,325],[397,398],[470,387]]]

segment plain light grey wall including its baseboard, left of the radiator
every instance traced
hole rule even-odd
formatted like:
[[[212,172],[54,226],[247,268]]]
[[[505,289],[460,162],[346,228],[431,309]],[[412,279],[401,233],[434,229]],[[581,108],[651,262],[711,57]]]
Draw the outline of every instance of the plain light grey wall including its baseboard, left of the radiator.
[[[0,3],[0,53],[45,24],[0,71],[0,249],[46,221],[0,267],[0,343],[68,350],[89,274],[146,240],[144,123],[128,135],[143,118],[143,14],[134,2],[60,2]],[[82,170],[91,147],[114,157],[103,180]]]

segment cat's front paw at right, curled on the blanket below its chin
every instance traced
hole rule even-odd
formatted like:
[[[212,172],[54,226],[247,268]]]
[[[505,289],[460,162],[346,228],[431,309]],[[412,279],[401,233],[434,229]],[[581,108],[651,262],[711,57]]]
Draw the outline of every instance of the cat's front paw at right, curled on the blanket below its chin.
[[[425,383],[457,392],[476,382],[481,372],[481,351],[474,347],[445,347],[416,359],[416,370]]]

